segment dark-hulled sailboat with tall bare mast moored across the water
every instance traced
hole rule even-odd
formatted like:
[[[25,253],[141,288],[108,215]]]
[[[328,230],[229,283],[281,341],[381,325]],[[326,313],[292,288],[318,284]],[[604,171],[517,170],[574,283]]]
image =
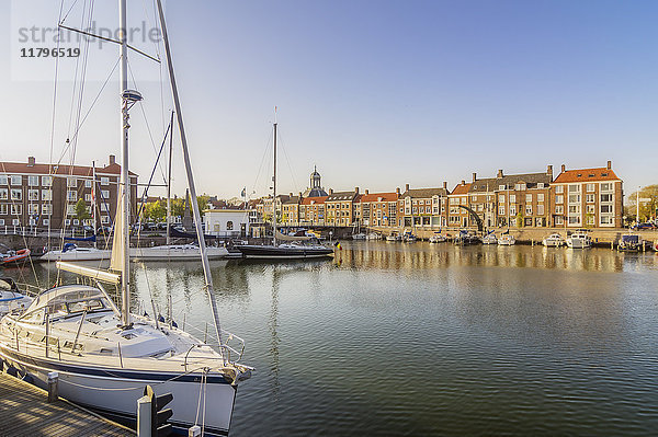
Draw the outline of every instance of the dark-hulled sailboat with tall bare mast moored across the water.
[[[333,249],[320,244],[313,237],[291,237],[276,231],[276,126],[274,122],[274,194],[272,197],[272,244],[240,244],[236,248],[246,258],[256,260],[305,260],[333,255]],[[283,241],[283,243],[280,243]]]

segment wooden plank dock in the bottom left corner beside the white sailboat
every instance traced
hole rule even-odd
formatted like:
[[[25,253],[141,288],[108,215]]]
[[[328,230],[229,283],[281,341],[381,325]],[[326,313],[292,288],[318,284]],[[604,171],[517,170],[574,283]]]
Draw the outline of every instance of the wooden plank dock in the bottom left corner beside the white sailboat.
[[[0,436],[135,436],[135,432],[0,372]],[[137,407],[137,403],[135,403]]]

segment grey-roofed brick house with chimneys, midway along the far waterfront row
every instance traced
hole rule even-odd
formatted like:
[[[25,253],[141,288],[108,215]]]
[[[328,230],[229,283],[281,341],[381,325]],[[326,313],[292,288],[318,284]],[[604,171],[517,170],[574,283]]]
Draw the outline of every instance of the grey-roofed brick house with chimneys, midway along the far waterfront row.
[[[446,203],[449,198],[447,182],[442,188],[410,188],[398,202],[399,227],[444,227],[447,223]]]

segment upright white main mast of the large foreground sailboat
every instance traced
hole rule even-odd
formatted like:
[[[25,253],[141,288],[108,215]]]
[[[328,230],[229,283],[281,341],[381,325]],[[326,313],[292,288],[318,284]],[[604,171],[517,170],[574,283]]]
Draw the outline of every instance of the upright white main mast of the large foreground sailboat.
[[[122,269],[122,281],[121,281],[121,321],[124,326],[131,324],[131,256],[128,254],[131,248],[131,183],[128,176],[128,100],[125,99],[125,92],[128,89],[128,42],[126,30],[127,18],[126,18],[126,0],[118,1],[118,42],[121,47],[121,95],[123,100],[121,125],[122,125],[122,164],[121,164],[121,189],[123,195],[121,202],[123,204],[123,226],[121,229],[122,238],[124,239],[124,257],[123,257],[123,269]]]

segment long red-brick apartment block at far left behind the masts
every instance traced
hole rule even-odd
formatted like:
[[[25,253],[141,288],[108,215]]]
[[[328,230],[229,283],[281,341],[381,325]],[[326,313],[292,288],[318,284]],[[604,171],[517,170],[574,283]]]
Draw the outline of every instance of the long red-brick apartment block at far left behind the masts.
[[[95,226],[110,226],[116,215],[121,165],[115,157],[102,168],[27,162],[0,162],[0,226],[61,229],[93,226],[77,218],[76,204],[82,199]],[[137,211],[137,175],[129,173],[131,214]],[[95,195],[95,197],[94,197]]]

